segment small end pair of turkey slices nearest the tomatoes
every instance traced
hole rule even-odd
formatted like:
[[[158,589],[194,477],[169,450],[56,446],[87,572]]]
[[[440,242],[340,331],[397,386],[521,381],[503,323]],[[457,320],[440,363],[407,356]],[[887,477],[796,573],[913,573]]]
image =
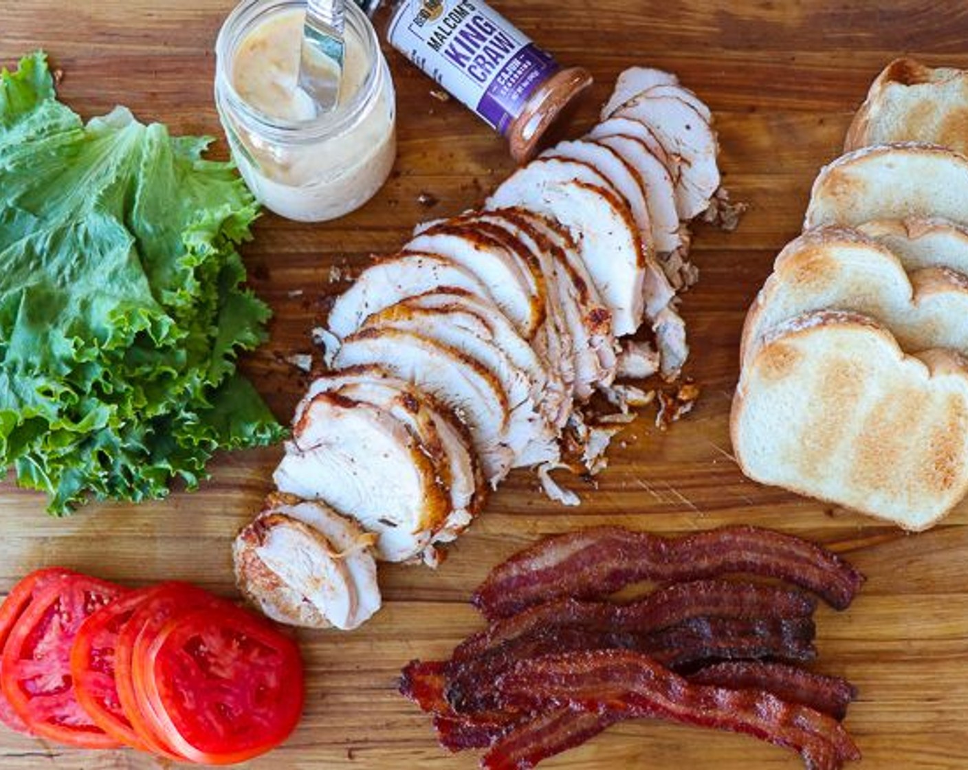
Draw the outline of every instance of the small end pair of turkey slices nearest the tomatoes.
[[[380,606],[373,539],[318,502],[270,495],[233,545],[239,589],[281,623],[355,629]]]

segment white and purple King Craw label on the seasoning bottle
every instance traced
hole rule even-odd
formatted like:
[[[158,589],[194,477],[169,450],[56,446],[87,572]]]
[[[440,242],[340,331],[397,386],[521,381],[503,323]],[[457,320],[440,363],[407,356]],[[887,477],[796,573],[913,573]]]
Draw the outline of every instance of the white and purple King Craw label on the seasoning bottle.
[[[389,40],[501,134],[559,69],[550,53],[477,0],[404,0]]]

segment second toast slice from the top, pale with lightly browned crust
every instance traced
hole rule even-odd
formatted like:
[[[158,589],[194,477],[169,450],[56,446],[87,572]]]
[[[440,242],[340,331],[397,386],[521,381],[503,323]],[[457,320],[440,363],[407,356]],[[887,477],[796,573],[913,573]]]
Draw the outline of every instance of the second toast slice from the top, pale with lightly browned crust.
[[[814,181],[803,229],[906,217],[968,225],[968,158],[918,142],[843,155]]]

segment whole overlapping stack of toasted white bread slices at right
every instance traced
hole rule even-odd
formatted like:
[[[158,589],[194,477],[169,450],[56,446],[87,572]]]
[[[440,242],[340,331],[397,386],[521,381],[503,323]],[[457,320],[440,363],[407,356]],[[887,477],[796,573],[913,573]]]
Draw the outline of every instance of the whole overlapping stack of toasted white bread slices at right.
[[[968,73],[892,62],[742,332],[742,471],[917,531],[968,494]]]

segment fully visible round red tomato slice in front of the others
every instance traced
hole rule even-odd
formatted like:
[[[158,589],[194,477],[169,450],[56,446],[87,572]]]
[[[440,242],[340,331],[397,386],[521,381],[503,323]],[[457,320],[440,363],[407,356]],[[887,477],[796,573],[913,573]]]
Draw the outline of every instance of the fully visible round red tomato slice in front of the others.
[[[179,754],[233,764],[287,739],[304,700],[291,639],[236,607],[172,618],[142,661],[139,695]]]

